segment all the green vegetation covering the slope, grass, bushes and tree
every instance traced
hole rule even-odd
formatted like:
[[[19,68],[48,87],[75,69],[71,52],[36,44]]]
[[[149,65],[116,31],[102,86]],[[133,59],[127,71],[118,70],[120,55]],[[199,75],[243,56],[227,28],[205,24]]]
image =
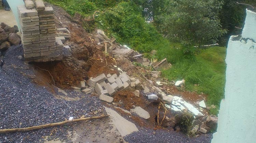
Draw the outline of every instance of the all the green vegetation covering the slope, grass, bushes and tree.
[[[71,16],[78,12],[90,19],[99,11],[95,21],[84,23],[86,30],[97,26],[148,58],[167,58],[173,67],[162,71],[163,76],[173,81],[185,79],[186,90],[208,94],[208,105],[219,105],[224,96],[226,48],[199,50],[194,46],[214,43],[225,33],[219,19],[222,1],[46,1],[63,7]],[[148,23],[145,19],[153,22]],[[157,54],[152,56],[152,50],[157,50]],[[210,112],[216,114],[218,111],[212,109]]]

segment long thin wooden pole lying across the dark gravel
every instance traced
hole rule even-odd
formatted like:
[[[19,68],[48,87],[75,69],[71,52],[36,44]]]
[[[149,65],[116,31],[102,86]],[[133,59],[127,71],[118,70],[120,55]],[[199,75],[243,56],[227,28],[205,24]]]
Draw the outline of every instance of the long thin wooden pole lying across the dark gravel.
[[[29,131],[29,130],[42,129],[42,128],[47,128],[47,127],[64,125],[64,124],[71,123],[71,122],[80,122],[80,121],[86,121],[86,120],[101,119],[101,118],[105,118],[105,117],[109,117],[109,115],[102,115],[102,116],[99,116],[99,117],[88,117],[88,118],[67,120],[67,121],[63,121],[63,122],[50,123],[50,124],[45,124],[45,125],[40,125],[40,126],[33,126],[33,127],[27,127],[27,128],[2,129],[2,130],[0,130],[0,133]]]

